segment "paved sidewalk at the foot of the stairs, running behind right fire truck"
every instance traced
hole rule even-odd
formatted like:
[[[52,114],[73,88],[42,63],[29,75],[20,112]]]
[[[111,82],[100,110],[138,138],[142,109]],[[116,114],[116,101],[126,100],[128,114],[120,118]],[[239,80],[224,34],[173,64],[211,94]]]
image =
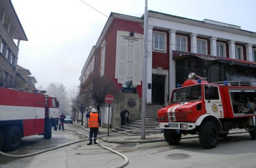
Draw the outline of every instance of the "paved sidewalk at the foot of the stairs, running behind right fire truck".
[[[90,130],[90,128],[85,128],[85,126],[81,126],[80,123],[75,123],[77,126],[80,126],[81,128],[85,130]],[[233,129],[230,130],[229,134],[240,134],[248,132],[244,129]],[[182,135],[181,139],[187,139],[187,138],[198,138],[198,135]],[[116,144],[129,144],[129,143],[150,143],[150,142],[160,142],[160,141],[166,141],[164,139],[163,133],[155,133],[155,134],[145,134],[145,138],[142,139],[140,134],[127,134],[126,132],[115,132],[113,129],[108,128],[99,128],[98,133],[98,139],[101,139],[105,142],[109,143],[116,143]]]

